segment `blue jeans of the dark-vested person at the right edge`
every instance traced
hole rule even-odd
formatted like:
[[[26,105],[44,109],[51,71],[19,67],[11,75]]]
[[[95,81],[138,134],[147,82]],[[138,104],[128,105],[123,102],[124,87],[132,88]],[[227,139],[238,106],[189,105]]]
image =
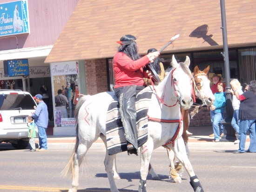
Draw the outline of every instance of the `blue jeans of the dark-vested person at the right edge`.
[[[246,142],[246,133],[249,130],[250,133],[250,145],[247,152],[256,152],[256,130],[255,130],[255,120],[240,120],[240,129],[239,129],[239,152],[245,152],[245,142]]]

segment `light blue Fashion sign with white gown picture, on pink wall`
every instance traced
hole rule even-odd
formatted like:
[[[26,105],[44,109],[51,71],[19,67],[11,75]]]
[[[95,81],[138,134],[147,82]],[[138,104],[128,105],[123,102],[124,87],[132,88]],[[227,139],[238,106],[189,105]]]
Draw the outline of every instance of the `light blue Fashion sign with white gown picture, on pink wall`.
[[[0,4],[0,37],[29,33],[27,0]]]

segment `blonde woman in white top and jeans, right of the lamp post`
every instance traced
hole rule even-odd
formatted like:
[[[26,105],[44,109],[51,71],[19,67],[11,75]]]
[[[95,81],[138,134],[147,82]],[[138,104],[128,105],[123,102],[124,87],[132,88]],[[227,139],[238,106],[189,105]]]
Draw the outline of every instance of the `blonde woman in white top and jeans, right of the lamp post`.
[[[236,98],[235,92],[238,92],[238,95],[242,95],[243,91],[242,91],[242,86],[240,84],[240,82],[237,79],[233,79],[230,81],[230,86],[231,89],[229,90],[230,93],[232,93],[232,106],[234,109],[234,114],[233,114],[233,118],[231,121],[231,125],[233,126],[233,128],[235,129],[235,131],[239,134],[239,124],[240,124],[240,120],[239,120],[239,107],[240,107],[240,101],[239,99]],[[239,139],[237,139],[235,141],[234,144],[238,144],[239,143]]]

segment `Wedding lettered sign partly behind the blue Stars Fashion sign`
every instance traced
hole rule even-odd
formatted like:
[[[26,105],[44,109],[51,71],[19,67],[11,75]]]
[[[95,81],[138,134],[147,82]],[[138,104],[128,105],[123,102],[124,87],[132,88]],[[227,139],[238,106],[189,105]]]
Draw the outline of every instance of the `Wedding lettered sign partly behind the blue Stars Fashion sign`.
[[[29,78],[41,78],[41,77],[51,77],[50,66],[33,66],[29,67]],[[4,69],[0,69],[1,80],[10,79],[5,77]]]

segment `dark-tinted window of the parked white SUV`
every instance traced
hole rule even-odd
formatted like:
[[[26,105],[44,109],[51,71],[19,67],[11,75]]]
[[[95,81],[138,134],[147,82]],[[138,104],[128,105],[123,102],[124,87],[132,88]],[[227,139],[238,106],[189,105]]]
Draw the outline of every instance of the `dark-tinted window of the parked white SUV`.
[[[0,110],[34,109],[34,99],[28,94],[0,94]]]

